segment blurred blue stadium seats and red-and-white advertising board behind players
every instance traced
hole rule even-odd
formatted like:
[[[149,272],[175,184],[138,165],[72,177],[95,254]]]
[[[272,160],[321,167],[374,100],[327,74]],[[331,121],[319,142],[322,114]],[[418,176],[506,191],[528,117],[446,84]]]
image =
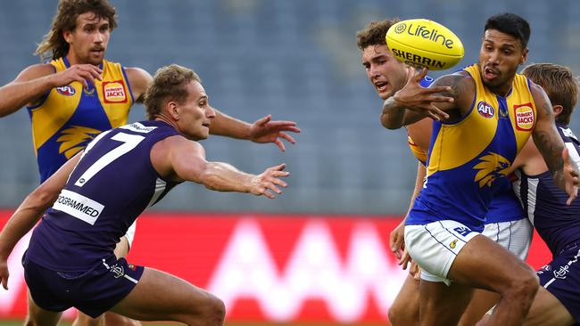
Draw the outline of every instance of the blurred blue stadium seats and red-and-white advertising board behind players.
[[[56,4],[55,0],[3,3],[0,85],[37,63],[32,53],[49,29]],[[286,162],[292,173],[290,185],[277,200],[183,184],[137,227],[131,253],[137,264],[176,273],[215,289],[221,297],[232,293],[236,282],[231,280],[236,277],[253,275],[255,284],[263,283],[264,275],[271,278],[263,298],[255,287],[236,288],[237,297],[227,300],[233,311],[229,322],[386,320],[385,312],[404,277],[386,252],[388,232],[406,211],[416,163],[404,131],[386,131],[378,122],[381,101],[360,65],[356,30],[386,17],[432,19],[461,38],[466,55],[460,65],[467,65],[476,61],[485,19],[498,12],[516,12],[532,26],[528,62],[557,62],[580,72],[580,3],[576,0],[117,0],[112,4],[120,27],[112,32],[109,60],[152,74],[176,62],[199,73],[212,106],[246,121],[271,113],[302,128],[302,134],[295,136],[297,143],[286,145],[286,153],[272,144],[222,137],[203,142],[208,159],[227,161],[248,172]],[[136,105],[129,120],[143,118],[143,108]],[[571,126],[580,127],[577,114]],[[38,182],[26,110],[0,118],[0,152],[2,225]],[[379,256],[352,257],[352,253],[364,256],[366,249],[375,249]],[[234,253],[228,258],[231,262],[246,265],[224,258],[230,252]],[[545,252],[532,255],[537,265]],[[11,273],[16,275],[18,259],[12,261],[15,272],[11,269]],[[270,265],[254,264],[258,261]],[[373,261],[384,265],[371,268]],[[225,277],[230,288],[223,284],[225,288],[220,288],[211,280],[219,279],[216,274],[223,264],[229,270],[237,268],[228,262],[239,267],[239,275]],[[325,280],[330,281],[319,284]],[[345,280],[355,281],[343,288],[332,283]],[[357,287],[364,290],[359,293]],[[17,294],[14,289],[0,290],[0,318],[23,313],[24,292],[18,289]],[[268,289],[279,289],[270,293],[281,300],[278,306],[269,306],[276,300],[268,298]],[[297,303],[284,299],[296,301],[297,296]],[[357,296],[360,299],[354,301],[336,299]]]

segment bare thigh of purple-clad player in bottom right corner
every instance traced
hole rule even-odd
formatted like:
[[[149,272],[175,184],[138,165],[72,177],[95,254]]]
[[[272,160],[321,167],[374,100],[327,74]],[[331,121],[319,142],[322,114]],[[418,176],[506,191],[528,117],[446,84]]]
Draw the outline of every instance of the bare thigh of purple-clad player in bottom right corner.
[[[574,317],[562,306],[558,298],[547,289],[540,287],[534,297],[534,303],[527,314],[526,326],[571,326],[575,325]]]

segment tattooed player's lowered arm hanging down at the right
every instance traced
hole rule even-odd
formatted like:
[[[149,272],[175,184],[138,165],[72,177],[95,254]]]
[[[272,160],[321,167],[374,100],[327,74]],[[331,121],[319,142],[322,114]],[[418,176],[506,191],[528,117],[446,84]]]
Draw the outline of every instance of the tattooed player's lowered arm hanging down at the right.
[[[542,153],[546,165],[560,189],[568,192],[568,205],[576,199],[578,191],[578,167],[568,157],[568,150],[558,134],[554,124],[554,111],[548,95],[542,87],[532,83],[532,96],[537,110],[537,121],[534,126],[535,146]]]

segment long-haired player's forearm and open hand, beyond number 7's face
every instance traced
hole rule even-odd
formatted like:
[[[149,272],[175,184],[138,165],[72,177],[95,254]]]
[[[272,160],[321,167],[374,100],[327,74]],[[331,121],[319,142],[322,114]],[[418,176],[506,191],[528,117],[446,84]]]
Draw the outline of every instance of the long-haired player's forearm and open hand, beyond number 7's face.
[[[215,109],[214,109],[215,110]],[[296,143],[294,137],[286,132],[300,133],[300,128],[294,121],[275,120],[270,115],[249,124],[237,118],[215,110],[216,116],[211,121],[210,133],[245,139],[254,143],[276,143],[280,151],[286,151],[282,138],[290,143]]]

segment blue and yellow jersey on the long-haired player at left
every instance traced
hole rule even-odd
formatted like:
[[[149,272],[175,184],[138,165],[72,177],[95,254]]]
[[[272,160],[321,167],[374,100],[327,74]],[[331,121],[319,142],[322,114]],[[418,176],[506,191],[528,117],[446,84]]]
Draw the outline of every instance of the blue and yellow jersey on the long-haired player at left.
[[[50,64],[56,72],[70,67],[65,57]],[[125,69],[111,61],[103,61],[100,68],[103,80],[95,79],[94,86],[85,89],[73,82],[55,87],[40,104],[28,108],[41,182],[83,150],[95,135],[127,123],[133,94]]]

